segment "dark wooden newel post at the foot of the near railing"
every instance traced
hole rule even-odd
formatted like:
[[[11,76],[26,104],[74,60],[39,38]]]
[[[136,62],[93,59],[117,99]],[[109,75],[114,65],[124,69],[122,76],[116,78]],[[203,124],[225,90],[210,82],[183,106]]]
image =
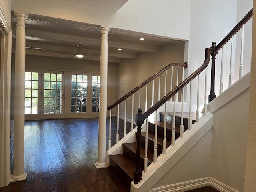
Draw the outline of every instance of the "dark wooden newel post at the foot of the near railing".
[[[138,114],[136,114],[135,122],[137,124],[137,149],[136,149],[136,166],[133,172],[133,182],[137,184],[141,180],[142,171],[140,169],[140,138],[141,138],[141,126],[144,122],[144,116],[142,114],[142,109],[138,109]]]

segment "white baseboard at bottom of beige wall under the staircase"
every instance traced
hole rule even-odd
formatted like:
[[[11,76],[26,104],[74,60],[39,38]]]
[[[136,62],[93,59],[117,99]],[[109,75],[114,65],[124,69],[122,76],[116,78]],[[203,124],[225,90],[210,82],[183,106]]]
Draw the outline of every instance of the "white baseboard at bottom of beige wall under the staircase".
[[[238,192],[237,190],[211,177],[156,187],[150,189],[149,192],[184,192],[206,186],[211,186],[220,192]]]

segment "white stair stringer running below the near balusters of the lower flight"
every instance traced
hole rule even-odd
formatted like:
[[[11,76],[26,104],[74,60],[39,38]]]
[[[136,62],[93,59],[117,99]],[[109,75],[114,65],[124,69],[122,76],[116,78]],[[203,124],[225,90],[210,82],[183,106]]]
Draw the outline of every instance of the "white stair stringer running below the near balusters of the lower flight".
[[[213,114],[208,112],[202,116],[192,129],[184,132],[184,137],[175,141],[166,154],[161,154],[156,163],[148,166],[148,172],[142,172],[142,180],[138,184],[131,183],[131,192],[149,191],[211,128],[213,127]]]

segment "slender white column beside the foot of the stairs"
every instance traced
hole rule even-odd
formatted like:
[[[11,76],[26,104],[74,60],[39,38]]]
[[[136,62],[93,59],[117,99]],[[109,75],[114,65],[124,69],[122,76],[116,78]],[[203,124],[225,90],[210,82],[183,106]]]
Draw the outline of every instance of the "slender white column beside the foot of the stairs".
[[[98,134],[98,160],[96,168],[108,167],[106,163],[106,126],[107,126],[107,85],[108,85],[108,32],[111,27],[100,26],[100,111]]]

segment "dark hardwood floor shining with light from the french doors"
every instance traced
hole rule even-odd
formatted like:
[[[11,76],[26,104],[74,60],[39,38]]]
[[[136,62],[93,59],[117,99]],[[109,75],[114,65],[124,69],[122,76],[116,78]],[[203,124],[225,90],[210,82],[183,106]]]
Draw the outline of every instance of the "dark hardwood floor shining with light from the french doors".
[[[112,118],[113,127],[115,124],[116,118]],[[120,120],[120,139],[123,124]],[[127,124],[129,131],[130,123]],[[112,130],[112,145],[115,137],[116,132]],[[10,144],[12,154],[13,136]],[[106,145],[108,148],[108,136]],[[28,174],[27,180],[11,182],[0,191],[128,192],[109,168],[95,168],[97,148],[98,118],[26,121],[24,171]],[[13,156],[10,158],[13,172]],[[198,189],[191,192],[216,191]]]

